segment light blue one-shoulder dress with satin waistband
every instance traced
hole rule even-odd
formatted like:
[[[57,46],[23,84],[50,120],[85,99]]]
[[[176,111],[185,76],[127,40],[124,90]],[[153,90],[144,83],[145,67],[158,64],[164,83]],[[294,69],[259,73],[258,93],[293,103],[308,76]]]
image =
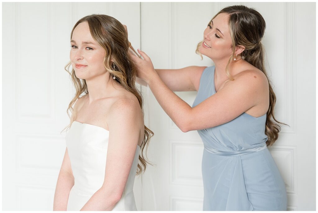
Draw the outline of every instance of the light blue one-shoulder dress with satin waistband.
[[[214,69],[204,69],[192,107],[216,93]],[[266,147],[265,122],[266,114],[243,113],[198,130],[204,143],[203,210],[287,210],[285,183]]]

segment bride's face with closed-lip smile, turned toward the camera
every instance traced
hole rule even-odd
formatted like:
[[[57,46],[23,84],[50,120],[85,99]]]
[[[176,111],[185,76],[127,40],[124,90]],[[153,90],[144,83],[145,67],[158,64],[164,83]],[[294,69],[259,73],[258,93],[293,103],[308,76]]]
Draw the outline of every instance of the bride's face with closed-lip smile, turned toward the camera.
[[[91,79],[105,74],[105,50],[94,41],[87,22],[79,23],[71,39],[70,60],[79,79]]]

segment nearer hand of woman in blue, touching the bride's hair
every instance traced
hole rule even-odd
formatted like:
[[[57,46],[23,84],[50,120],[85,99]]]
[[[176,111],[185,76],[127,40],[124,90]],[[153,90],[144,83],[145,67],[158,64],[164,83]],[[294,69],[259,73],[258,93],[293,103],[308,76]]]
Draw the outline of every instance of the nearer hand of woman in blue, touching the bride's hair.
[[[137,77],[141,78],[142,80],[146,81],[147,84],[149,84],[150,81],[154,79],[154,77],[158,74],[156,73],[154,65],[152,64],[152,61],[149,58],[149,56],[140,49],[138,49],[138,53],[144,59],[139,58],[131,52],[129,52],[129,54],[131,55],[131,59],[135,62],[136,65]]]

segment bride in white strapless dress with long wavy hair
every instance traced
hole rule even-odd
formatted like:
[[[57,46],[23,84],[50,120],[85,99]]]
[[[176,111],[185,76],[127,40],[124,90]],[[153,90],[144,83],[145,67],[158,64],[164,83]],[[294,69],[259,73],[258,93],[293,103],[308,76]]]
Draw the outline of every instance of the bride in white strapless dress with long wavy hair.
[[[134,179],[146,169],[142,151],[153,132],[144,126],[129,46],[113,17],[93,14],[73,27],[66,68],[76,95],[53,210],[137,210]]]

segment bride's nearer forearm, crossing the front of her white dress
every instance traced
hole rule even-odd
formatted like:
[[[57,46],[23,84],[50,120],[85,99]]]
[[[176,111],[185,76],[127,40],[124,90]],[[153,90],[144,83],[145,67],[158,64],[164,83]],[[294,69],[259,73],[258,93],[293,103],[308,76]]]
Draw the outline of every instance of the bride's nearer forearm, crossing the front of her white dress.
[[[85,203],[80,211],[110,211],[114,209],[120,199],[121,195],[100,188]]]

